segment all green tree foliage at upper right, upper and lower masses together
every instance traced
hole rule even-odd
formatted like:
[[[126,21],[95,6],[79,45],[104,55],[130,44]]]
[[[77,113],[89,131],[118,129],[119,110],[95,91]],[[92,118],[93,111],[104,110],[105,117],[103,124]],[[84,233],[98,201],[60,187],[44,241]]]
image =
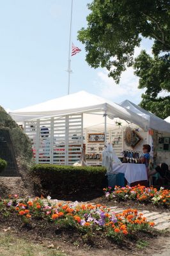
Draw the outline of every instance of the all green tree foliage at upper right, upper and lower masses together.
[[[149,110],[164,100],[157,97],[159,92],[169,91],[169,6],[169,0],[93,0],[88,4],[88,27],[78,32],[88,64],[107,68],[116,83],[120,82],[121,72],[134,65],[140,77],[139,88],[146,87],[141,106]],[[141,52],[134,61],[134,49],[142,38],[153,39],[154,56]],[[163,52],[165,55],[160,57]]]

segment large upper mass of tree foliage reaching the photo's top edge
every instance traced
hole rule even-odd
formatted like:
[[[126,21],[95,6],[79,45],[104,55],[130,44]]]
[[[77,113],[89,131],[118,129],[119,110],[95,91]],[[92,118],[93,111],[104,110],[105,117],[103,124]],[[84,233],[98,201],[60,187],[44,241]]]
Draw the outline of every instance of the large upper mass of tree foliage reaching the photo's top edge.
[[[88,4],[88,27],[78,33],[88,64],[106,67],[119,83],[121,72],[133,64],[142,36],[154,39],[155,54],[169,51],[169,6],[169,0],[93,0]]]

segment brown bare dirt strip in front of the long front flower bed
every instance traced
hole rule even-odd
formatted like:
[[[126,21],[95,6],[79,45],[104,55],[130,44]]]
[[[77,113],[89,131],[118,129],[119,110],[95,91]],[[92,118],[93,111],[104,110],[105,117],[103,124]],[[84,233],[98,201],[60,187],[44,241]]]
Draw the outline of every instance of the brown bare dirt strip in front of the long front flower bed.
[[[159,232],[138,232],[133,237],[126,237],[120,243],[107,239],[100,232],[93,236],[80,234],[73,228],[57,227],[54,222],[45,220],[32,220],[31,225],[23,225],[19,216],[13,214],[8,218],[0,217],[0,229],[11,227],[7,232],[23,238],[27,241],[58,248],[70,256],[89,256],[89,255],[152,255],[157,250],[163,250],[163,242]],[[168,234],[166,234],[167,238]],[[164,240],[163,240],[164,241]]]

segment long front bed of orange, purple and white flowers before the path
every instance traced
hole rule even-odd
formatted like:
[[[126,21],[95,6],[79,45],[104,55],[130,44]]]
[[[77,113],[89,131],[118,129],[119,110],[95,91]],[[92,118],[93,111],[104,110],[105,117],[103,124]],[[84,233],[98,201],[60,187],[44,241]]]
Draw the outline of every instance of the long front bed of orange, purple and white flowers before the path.
[[[54,223],[56,229],[72,228],[83,236],[93,236],[100,232],[101,236],[114,240],[132,236],[139,231],[150,230],[154,223],[150,223],[138,214],[136,209],[127,209],[116,214],[106,206],[92,204],[60,203],[44,204],[41,198],[35,200],[20,200],[17,195],[0,202],[2,217],[15,216],[20,218],[24,225],[31,225],[34,220],[43,220],[45,223]]]

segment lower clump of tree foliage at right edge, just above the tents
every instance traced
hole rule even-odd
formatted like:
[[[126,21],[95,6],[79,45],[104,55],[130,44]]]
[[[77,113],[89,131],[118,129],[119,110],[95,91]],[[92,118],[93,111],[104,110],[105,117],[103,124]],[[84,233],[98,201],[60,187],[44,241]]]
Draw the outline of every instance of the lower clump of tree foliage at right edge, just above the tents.
[[[170,54],[151,57],[146,51],[135,58],[135,75],[139,88],[146,88],[140,106],[161,118],[170,115],[170,96],[158,97],[160,92],[170,92]]]

